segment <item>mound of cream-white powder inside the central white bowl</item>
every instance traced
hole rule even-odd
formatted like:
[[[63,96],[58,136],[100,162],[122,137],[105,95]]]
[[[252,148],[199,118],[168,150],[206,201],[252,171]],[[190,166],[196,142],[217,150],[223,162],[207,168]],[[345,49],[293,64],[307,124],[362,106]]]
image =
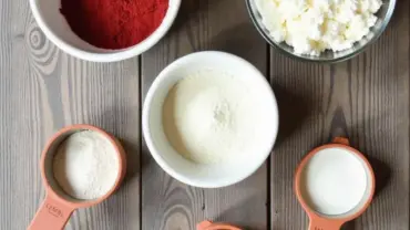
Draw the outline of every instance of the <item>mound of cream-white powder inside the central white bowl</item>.
[[[264,146],[264,106],[257,88],[239,76],[204,69],[177,82],[163,105],[163,126],[174,149],[198,164],[252,155]],[[266,126],[266,125],[265,125]]]

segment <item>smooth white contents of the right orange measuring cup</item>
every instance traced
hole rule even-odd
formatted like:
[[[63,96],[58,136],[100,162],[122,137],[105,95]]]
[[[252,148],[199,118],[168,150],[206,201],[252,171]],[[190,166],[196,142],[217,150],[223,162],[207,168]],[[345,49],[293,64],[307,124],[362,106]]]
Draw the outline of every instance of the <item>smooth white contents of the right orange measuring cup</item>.
[[[344,148],[327,148],[304,168],[304,197],[324,215],[342,215],[353,209],[367,189],[367,174],[357,156]]]

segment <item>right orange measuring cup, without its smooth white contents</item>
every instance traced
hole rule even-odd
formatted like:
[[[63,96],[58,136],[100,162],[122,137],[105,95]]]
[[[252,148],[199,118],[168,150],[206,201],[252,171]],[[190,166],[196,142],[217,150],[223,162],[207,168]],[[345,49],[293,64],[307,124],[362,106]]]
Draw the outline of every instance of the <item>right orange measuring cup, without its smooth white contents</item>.
[[[315,210],[315,208],[311,207],[308,200],[308,196],[304,192],[305,187],[301,180],[304,177],[305,167],[316,154],[318,154],[319,151],[326,154],[326,151],[324,150],[335,148],[347,150],[360,161],[361,166],[363,167],[363,171],[366,172],[367,185],[361,200],[352,209],[340,215],[326,215],[318,212],[317,210]],[[370,163],[359,150],[349,146],[349,140],[347,138],[336,137],[331,144],[317,147],[305,156],[305,158],[297,167],[294,188],[299,203],[309,217],[309,230],[339,230],[344,223],[359,217],[369,207],[375,194],[375,174]]]

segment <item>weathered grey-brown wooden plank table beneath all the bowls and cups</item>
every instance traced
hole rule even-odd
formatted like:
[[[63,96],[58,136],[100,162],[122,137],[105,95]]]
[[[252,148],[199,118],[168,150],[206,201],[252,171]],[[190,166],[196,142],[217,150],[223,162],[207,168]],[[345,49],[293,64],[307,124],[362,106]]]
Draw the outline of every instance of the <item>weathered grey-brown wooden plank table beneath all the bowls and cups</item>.
[[[247,229],[306,229],[293,192],[297,163],[332,137],[349,137],[377,175],[370,208],[345,229],[408,230],[410,164],[409,0],[359,56],[335,65],[301,63],[270,49],[245,2],[183,0],[167,35],[139,58],[91,63],[54,46],[27,0],[0,1],[0,229],[25,229],[44,197],[40,153],[59,128],[88,123],[124,144],[129,171],[107,201],[74,213],[69,230],[193,230],[203,219]],[[235,186],[201,189],[165,174],[141,134],[144,96],[158,72],[201,50],[232,52],[271,83],[279,137],[267,163]]]

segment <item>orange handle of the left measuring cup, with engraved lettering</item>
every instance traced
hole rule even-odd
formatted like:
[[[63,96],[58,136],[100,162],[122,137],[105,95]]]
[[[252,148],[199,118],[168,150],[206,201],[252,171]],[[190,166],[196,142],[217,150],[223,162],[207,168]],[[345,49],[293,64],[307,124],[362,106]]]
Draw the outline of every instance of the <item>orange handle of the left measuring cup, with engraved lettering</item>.
[[[47,195],[28,230],[61,230],[69,221],[73,211],[74,208]]]

